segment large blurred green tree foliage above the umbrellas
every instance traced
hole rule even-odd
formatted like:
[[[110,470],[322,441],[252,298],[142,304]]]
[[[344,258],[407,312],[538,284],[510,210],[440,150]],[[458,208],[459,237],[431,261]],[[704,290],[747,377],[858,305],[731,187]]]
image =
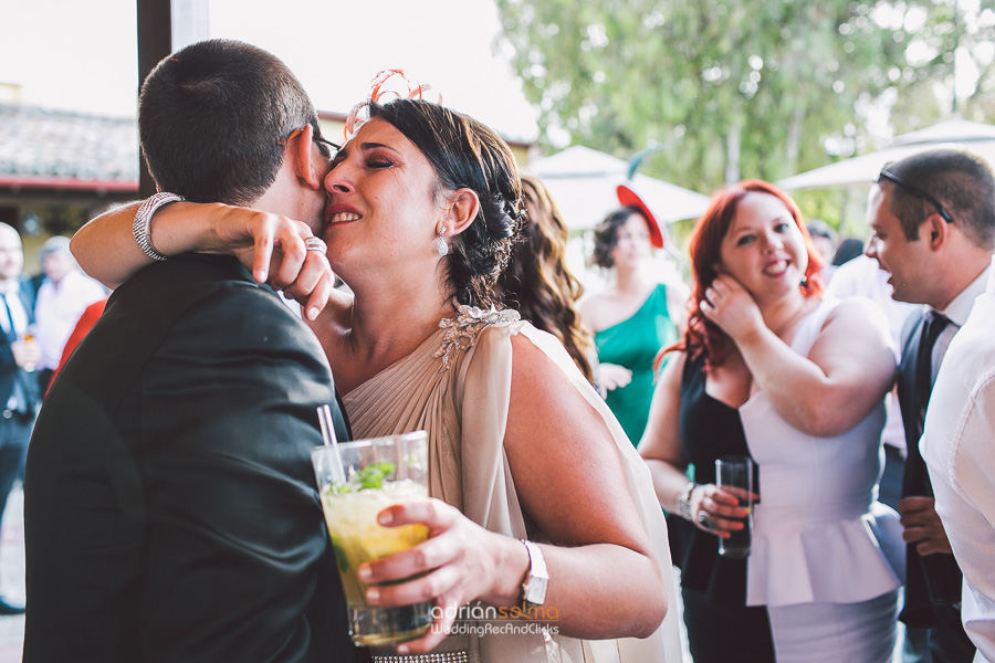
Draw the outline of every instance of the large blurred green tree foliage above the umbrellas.
[[[496,2],[544,137],[621,158],[660,145],[641,171],[699,191],[866,151],[870,109],[935,81],[956,32],[953,0]],[[928,117],[929,96],[901,103]]]

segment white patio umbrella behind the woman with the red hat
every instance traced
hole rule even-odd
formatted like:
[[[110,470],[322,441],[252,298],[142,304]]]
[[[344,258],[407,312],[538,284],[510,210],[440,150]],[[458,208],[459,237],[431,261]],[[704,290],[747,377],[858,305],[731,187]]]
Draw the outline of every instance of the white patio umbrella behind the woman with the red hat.
[[[615,189],[627,182],[629,165],[605,152],[575,145],[523,170],[543,180],[570,230],[596,227],[619,207]],[[661,223],[700,217],[709,197],[637,173],[629,182]]]

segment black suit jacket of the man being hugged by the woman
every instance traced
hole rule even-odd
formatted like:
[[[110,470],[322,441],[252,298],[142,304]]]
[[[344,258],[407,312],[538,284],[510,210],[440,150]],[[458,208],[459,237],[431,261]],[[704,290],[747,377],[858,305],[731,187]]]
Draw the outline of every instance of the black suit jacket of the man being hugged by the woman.
[[[121,286],[31,441],[24,661],[353,661],[310,460],[324,403],[315,336],[233,259]]]

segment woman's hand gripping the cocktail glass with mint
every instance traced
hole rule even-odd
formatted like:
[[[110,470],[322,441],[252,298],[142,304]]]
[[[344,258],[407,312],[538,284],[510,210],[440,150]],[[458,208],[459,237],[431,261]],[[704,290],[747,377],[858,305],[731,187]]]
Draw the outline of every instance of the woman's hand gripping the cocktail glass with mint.
[[[389,557],[368,561],[359,579],[371,587],[371,606],[408,606],[434,600],[440,619],[418,640],[398,645],[398,653],[429,652],[449,633],[461,606],[482,599],[513,604],[528,565],[525,547],[515,539],[488,532],[439,499],[410,502],[380,512],[387,527],[421,523],[429,539]],[[510,551],[510,554],[507,554]],[[377,586],[425,573],[407,582]]]

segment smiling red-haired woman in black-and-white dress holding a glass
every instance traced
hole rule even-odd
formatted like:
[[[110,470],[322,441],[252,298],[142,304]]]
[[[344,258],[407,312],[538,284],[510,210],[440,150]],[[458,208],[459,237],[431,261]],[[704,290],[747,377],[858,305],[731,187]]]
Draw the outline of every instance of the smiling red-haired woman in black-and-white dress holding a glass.
[[[821,297],[800,212],[773,185],[718,193],[691,259],[695,304],[639,451],[673,512],[694,661],[887,662],[903,575],[897,516],[876,502],[888,326]],[[758,467],[747,559],[718,554],[746,517],[715,485],[725,455]]]

